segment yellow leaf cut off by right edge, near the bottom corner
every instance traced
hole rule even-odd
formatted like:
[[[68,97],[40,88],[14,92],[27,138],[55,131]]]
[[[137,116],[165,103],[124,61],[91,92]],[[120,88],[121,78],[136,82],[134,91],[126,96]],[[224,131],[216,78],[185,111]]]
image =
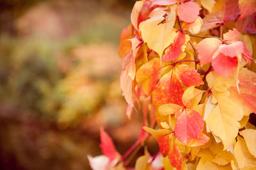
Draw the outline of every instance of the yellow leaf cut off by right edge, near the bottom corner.
[[[248,150],[256,158],[256,130],[252,128],[239,132],[244,137]]]

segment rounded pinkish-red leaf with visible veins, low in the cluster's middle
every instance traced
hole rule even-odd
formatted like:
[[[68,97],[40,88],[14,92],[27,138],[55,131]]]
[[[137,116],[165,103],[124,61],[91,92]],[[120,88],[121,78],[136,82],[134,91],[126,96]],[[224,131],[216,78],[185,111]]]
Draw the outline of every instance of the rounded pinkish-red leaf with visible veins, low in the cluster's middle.
[[[177,119],[174,133],[180,142],[189,144],[192,139],[199,139],[203,130],[204,120],[202,116],[194,110],[187,110],[182,112]]]

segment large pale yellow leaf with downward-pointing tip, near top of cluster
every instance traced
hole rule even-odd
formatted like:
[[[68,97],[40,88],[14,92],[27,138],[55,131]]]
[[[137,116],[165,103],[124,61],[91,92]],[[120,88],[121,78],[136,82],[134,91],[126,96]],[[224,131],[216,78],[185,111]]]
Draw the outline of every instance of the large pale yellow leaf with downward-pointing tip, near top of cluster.
[[[162,12],[150,15],[150,19],[140,23],[139,29],[143,41],[147,43],[150,49],[156,51],[160,57],[162,57],[164,49],[173,43],[175,38],[173,26],[176,20],[176,8],[176,4],[170,6],[170,12],[165,12],[167,14],[166,19],[163,17],[166,8],[159,8]]]

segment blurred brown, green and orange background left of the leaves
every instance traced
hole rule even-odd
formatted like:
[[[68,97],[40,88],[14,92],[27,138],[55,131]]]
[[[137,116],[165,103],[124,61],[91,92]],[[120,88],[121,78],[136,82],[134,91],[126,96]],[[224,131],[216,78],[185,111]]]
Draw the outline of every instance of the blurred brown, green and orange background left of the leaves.
[[[0,1],[0,169],[90,169],[100,127],[121,154],[136,141],[117,55],[134,2]]]

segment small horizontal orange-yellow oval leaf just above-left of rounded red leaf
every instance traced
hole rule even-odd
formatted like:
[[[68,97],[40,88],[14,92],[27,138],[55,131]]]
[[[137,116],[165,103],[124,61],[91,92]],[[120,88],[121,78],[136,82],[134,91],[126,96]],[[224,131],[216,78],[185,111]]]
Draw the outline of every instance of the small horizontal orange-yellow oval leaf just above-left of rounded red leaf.
[[[174,114],[175,112],[182,112],[182,106],[177,105],[177,104],[164,104],[161,105],[158,108],[158,111],[160,114],[163,114],[164,116]]]

